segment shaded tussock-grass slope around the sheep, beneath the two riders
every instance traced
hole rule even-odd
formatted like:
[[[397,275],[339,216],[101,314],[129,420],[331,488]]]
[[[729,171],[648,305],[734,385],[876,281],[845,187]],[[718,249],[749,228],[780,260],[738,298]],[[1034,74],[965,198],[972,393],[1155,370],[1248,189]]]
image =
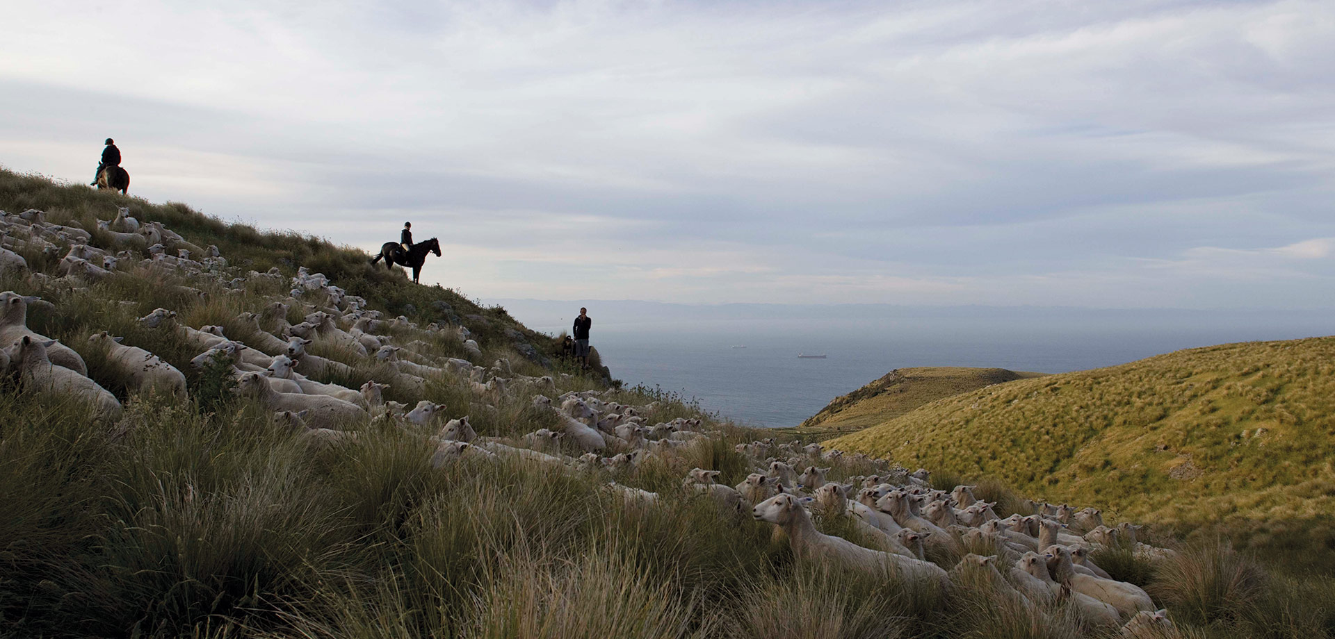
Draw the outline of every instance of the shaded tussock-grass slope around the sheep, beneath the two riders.
[[[550,358],[551,336],[503,309],[371,269],[355,249],[226,224],[182,204],[0,172],[0,209],[32,207],[49,221],[92,227],[116,205],[194,243],[218,244],[231,265],[191,272],[143,265],[140,255],[89,284],[57,277],[59,255],[36,241],[13,244],[31,272],[0,275],[0,291],[40,295],[48,304],[29,308],[28,326],[77,350],[89,378],[124,411],[97,422],[76,398],[36,388],[13,370],[0,376],[0,639],[1101,639],[1116,632],[1091,627],[1069,603],[1031,615],[991,586],[963,580],[943,594],[894,574],[804,560],[772,524],[746,516],[745,506],[721,507],[682,486],[692,468],[718,471],[720,483],[734,486],[769,455],[828,466],[834,482],[884,474],[884,462],[821,459],[785,443],[785,434],[738,428],[672,395],[619,388],[605,371],[575,371]],[[89,244],[109,241],[93,233]],[[184,324],[219,324],[246,340],[255,334],[236,315],[286,299],[298,265],[323,271],[371,300],[372,309],[446,326],[386,324],[394,344],[415,344],[435,362],[469,358],[487,367],[505,358],[513,386],[479,391],[467,375],[426,374],[419,390],[391,386],[386,399],[441,404],[435,422],[418,424],[387,406],[368,406],[367,415],[320,434],[292,428],[286,418],[274,419],[272,406],[228,392],[227,366],[195,370],[188,362],[198,351],[183,338],[136,322],[166,307]],[[270,267],[282,276],[247,275]],[[302,312],[294,308],[288,319]],[[458,326],[473,331],[481,355],[470,358],[450,339]],[[127,388],[105,351],[87,339],[103,330],[182,368],[190,396]],[[356,387],[394,372],[347,348],[315,343],[311,350],[351,368],[319,382]],[[502,371],[473,370],[485,379]],[[539,374],[553,379],[521,378]],[[646,424],[700,419],[704,432],[678,446],[658,442],[638,463],[606,450],[577,460],[582,450],[571,438],[550,451],[562,455],[550,464],[533,451],[521,456],[499,447],[494,458],[433,463],[431,438],[446,419],[467,415],[479,438],[523,446],[521,435],[566,423],[535,406],[534,395],[567,391],[598,398],[623,416],[630,411],[621,404],[633,407]],[[669,438],[676,435],[690,436]],[[756,442],[768,436],[780,442]],[[627,498],[611,482],[657,499]],[[936,482],[948,488],[952,478]],[[1019,502],[997,483],[981,486],[980,496]],[[848,516],[817,512],[814,524],[872,544]],[[1218,544],[1181,551],[1163,567],[1127,548],[1097,559],[1145,586],[1192,638],[1335,636],[1335,580],[1271,574]],[[943,568],[960,559],[936,551],[928,558]]]

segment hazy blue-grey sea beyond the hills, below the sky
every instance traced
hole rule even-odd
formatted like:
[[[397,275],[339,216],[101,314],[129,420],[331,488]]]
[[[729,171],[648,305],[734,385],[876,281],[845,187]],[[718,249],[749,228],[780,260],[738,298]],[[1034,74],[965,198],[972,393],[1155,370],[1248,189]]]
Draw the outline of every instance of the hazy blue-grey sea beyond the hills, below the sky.
[[[591,343],[614,378],[674,391],[765,427],[797,426],[894,368],[1067,372],[1180,348],[1335,334],[1327,312],[499,301],[530,328],[550,334],[589,305]]]

